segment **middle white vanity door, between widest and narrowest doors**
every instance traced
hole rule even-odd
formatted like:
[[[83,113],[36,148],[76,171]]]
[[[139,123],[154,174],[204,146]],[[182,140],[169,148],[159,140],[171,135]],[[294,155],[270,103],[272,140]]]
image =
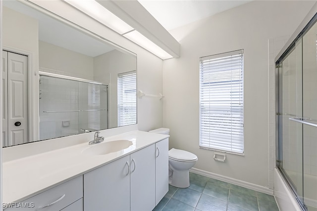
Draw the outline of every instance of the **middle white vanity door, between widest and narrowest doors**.
[[[130,155],[131,211],[155,208],[155,144]]]

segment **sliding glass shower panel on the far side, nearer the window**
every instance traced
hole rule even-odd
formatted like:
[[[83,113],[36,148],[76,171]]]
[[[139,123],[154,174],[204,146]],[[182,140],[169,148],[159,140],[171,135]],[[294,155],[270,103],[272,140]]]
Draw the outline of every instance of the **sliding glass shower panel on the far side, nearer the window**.
[[[279,154],[277,166],[303,201],[303,127],[292,118],[302,117],[302,40],[278,64]]]

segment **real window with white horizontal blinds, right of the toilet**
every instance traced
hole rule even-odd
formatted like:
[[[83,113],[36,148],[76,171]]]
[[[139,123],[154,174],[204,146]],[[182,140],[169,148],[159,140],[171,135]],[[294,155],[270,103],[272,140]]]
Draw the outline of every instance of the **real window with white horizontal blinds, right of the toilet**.
[[[200,147],[243,154],[243,50],[200,58]]]

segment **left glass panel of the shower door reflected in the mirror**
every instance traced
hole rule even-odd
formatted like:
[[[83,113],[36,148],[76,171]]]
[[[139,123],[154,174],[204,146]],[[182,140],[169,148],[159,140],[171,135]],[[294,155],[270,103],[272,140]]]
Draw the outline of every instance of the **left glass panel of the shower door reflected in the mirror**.
[[[40,140],[78,134],[78,82],[40,76]]]

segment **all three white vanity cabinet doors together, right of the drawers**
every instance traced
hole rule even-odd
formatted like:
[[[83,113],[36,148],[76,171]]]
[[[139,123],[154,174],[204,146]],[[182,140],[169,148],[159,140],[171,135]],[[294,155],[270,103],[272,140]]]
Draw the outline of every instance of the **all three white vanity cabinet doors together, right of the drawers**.
[[[84,174],[84,211],[152,211],[168,191],[168,138]]]

